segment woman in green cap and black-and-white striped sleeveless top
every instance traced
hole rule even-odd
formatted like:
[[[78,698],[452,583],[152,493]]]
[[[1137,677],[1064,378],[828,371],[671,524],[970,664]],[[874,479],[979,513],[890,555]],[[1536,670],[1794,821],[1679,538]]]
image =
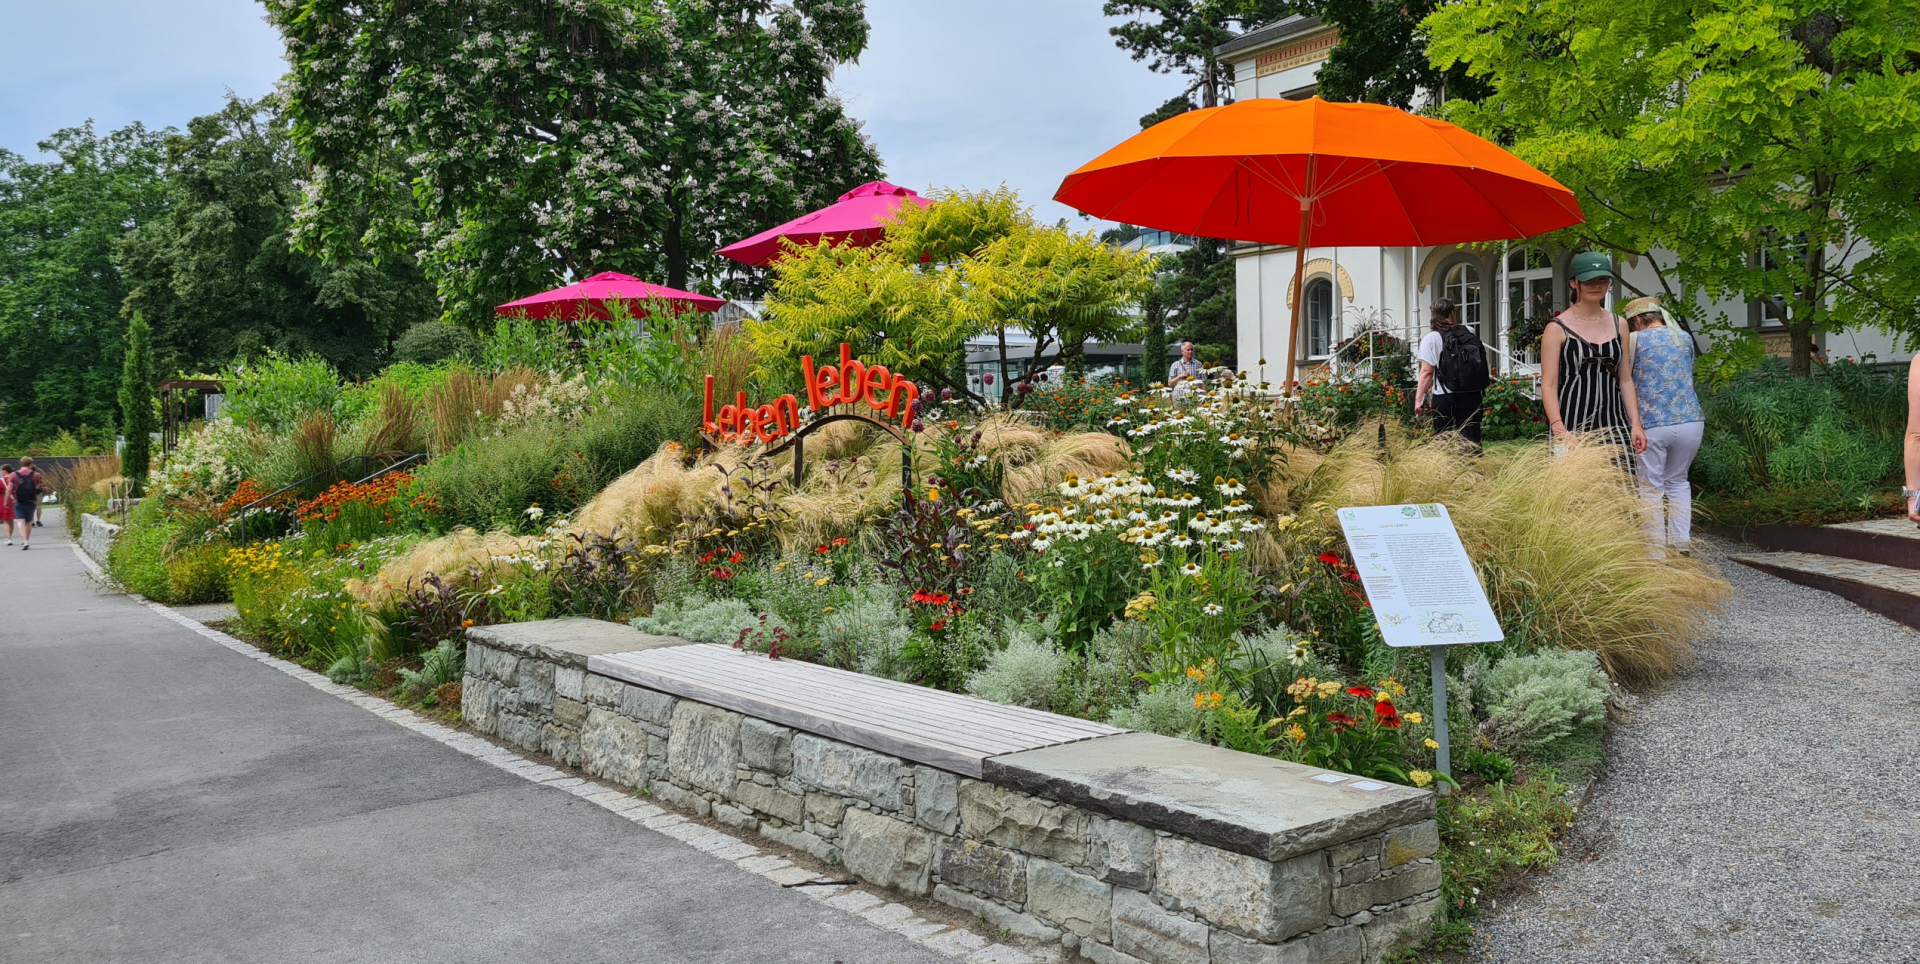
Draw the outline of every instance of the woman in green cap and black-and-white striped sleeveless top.
[[[1622,369],[1626,321],[1605,307],[1613,259],[1599,252],[1576,253],[1569,275],[1572,303],[1553,317],[1540,340],[1540,401],[1548,409],[1548,428],[1555,451],[1571,444],[1574,432],[1599,434],[1619,447],[1619,463],[1626,469],[1647,440],[1632,373]]]

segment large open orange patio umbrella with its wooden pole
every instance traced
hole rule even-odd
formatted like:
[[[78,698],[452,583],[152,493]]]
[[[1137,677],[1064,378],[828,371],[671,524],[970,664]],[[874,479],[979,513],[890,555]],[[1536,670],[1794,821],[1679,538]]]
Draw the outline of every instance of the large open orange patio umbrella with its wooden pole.
[[[1127,225],[1294,246],[1286,390],[1308,246],[1530,238],[1584,221],[1571,190],[1486,138],[1321,98],[1187,111],[1087,161],[1054,200]]]

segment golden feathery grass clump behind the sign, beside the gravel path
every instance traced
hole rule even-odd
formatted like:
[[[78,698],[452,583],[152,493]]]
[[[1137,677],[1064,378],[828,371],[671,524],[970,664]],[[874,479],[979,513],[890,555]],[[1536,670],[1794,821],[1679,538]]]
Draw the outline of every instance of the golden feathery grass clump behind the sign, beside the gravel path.
[[[1703,563],[1653,559],[1640,497],[1603,444],[1475,457],[1452,438],[1390,428],[1386,440],[1382,451],[1379,430],[1361,428],[1294,490],[1308,551],[1342,545],[1340,507],[1446,503],[1509,636],[1592,649],[1622,684],[1682,668],[1730,595]]]

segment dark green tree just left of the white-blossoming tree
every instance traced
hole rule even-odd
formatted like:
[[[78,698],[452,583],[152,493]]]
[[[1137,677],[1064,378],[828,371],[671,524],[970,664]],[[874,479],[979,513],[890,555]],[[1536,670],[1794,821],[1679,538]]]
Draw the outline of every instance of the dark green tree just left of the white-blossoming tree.
[[[411,323],[438,315],[407,253],[323,263],[288,244],[301,163],[273,98],[230,98],[165,138],[165,217],[119,240],[127,311],[154,326],[159,371],[213,371],[276,349],[349,376],[388,361]]]

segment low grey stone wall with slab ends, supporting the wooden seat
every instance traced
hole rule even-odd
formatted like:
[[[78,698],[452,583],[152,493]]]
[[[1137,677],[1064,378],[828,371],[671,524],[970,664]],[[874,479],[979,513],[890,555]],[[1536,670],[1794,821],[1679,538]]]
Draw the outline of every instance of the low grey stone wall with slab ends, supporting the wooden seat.
[[[1150,734],[995,757],[973,780],[599,676],[578,651],[657,645],[687,643],[591,620],[474,630],[467,722],[1100,964],[1375,962],[1438,908],[1425,791],[1329,789]]]

